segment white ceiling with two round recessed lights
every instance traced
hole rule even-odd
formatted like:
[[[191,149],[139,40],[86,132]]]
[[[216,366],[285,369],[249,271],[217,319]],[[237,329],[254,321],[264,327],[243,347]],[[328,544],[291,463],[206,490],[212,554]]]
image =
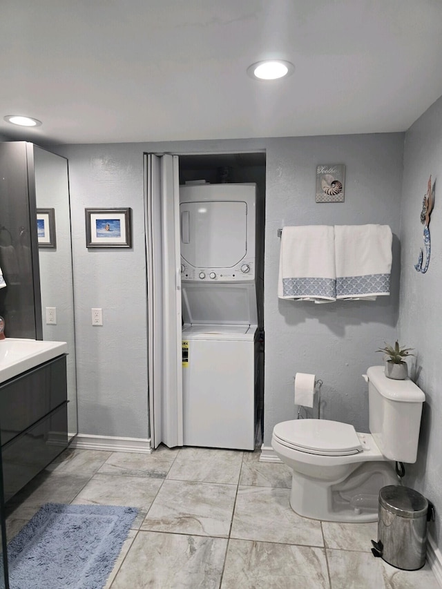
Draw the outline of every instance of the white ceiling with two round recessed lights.
[[[0,17],[12,139],[405,131],[442,95],[441,0],[1,0]],[[294,74],[248,77],[267,57]]]

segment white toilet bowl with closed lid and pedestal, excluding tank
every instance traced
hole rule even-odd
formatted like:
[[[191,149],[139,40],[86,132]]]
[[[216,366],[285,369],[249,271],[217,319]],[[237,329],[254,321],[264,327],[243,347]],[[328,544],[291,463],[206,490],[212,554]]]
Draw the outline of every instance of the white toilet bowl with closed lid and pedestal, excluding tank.
[[[292,470],[291,508],[323,521],[376,521],[378,493],[397,485],[371,434],[336,421],[284,421],[273,429],[277,456]]]

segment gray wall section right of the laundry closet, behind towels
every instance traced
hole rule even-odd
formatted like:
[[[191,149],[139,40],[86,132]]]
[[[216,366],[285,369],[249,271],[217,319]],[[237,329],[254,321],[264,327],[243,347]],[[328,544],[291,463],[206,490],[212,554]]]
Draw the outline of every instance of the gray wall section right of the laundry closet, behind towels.
[[[324,382],[323,418],[368,431],[367,367],[396,336],[399,207],[403,134],[271,139],[267,144],[265,243],[265,445],[273,426],[294,418],[294,374]],[[317,164],[345,164],[345,202],[316,204]],[[276,283],[284,225],[389,224],[394,236],[392,293],[375,302],[327,305],[278,300]]]

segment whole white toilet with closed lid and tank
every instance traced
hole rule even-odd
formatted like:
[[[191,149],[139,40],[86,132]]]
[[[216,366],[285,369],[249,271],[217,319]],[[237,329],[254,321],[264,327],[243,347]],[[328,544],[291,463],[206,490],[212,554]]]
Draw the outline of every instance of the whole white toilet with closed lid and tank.
[[[378,494],[397,485],[395,463],[416,462],[425,395],[410,378],[392,380],[383,366],[368,383],[369,434],[327,419],[283,421],[271,445],[292,472],[290,505],[324,521],[377,521]]]

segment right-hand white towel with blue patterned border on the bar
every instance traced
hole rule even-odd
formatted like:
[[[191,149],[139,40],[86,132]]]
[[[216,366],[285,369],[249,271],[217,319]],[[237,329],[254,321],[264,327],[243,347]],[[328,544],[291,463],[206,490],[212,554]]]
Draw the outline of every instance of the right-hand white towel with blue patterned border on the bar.
[[[392,230],[388,225],[335,225],[336,298],[390,294]]]

